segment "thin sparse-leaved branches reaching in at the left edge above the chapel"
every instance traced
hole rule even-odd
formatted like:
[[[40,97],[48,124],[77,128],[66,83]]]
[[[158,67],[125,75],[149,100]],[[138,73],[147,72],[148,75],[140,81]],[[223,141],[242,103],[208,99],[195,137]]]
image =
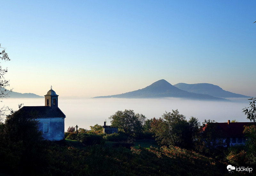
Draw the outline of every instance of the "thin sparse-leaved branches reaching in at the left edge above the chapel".
[[[0,48],[1,44],[0,44]],[[4,49],[4,48],[3,48]],[[8,56],[8,54],[5,52],[5,50],[3,50],[2,52],[0,52],[0,59],[4,60],[4,61],[9,61],[10,58]],[[9,86],[9,81],[4,79],[4,74],[7,72],[7,68],[2,68],[2,66],[0,66],[0,98],[6,98],[9,97],[9,94],[12,92],[12,89],[10,91],[6,90],[5,87]],[[2,101],[0,101],[2,102]],[[4,117],[5,117],[5,112],[10,110],[8,107],[2,107],[0,108],[0,123],[3,123]]]

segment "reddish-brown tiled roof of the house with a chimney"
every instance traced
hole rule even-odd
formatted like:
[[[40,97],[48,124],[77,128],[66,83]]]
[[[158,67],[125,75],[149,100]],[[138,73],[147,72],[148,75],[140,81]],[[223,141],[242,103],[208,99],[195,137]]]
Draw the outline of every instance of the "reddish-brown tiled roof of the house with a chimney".
[[[220,129],[225,137],[244,137],[244,126],[252,124],[251,122],[233,122],[233,123],[218,123]]]

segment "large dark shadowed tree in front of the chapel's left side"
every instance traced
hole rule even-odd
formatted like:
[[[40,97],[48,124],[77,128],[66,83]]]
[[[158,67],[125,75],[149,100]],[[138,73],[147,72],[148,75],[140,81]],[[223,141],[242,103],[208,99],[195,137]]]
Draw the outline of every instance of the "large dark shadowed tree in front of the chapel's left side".
[[[20,106],[19,106],[20,107]],[[36,113],[20,109],[9,115],[0,129],[0,169],[14,175],[38,175],[46,162],[45,141],[38,131]]]

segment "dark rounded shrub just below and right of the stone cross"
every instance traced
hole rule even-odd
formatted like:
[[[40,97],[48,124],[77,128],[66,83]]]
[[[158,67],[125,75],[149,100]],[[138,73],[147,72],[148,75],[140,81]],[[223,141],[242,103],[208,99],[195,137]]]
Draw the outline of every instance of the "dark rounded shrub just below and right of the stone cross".
[[[100,144],[103,141],[103,134],[78,133],[76,139],[85,145]]]

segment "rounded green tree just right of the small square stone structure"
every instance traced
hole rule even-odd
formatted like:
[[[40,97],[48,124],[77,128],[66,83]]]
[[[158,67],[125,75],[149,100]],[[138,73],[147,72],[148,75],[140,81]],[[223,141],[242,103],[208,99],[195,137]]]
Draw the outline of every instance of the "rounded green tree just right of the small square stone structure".
[[[138,136],[142,130],[139,116],[136,116],[133,110],[117,111],[109,119],[111,120],[111,126],[118,127],[125,134]]]

